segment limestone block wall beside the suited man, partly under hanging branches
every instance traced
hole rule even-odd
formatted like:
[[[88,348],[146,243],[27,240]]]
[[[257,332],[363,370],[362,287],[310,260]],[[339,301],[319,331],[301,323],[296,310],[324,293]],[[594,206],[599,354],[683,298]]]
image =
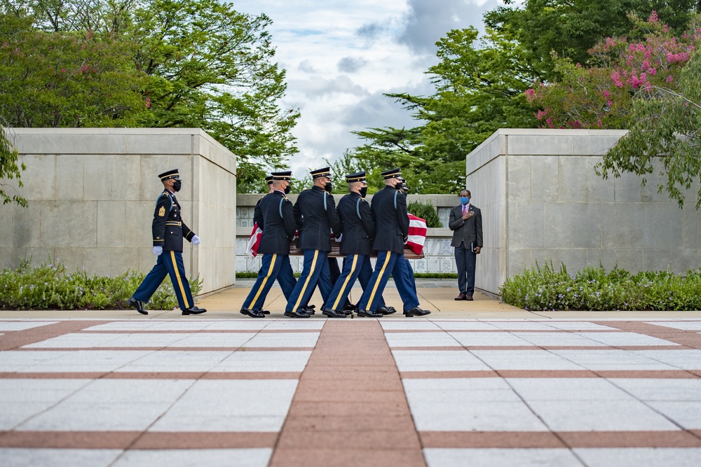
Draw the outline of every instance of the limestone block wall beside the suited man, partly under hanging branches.
[[[631,174],[604,180],[594,172],[624,134],[503,129],[468,155],[468,186],[484,218],[479,288],[496,293],[506,277],[546,260],[571,272],[599,263],[631,272],[699,267],[693,203],[679,209],[658,193],[656,174],[641,186]]]

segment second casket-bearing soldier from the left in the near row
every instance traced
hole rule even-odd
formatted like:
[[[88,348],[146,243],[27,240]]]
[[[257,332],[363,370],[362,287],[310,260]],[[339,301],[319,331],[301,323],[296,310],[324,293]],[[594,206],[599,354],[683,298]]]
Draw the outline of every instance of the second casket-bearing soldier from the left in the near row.
[[[331,171],[329,167],[313,170],[314,186],[299,193],[294,203],[294,220],[299,229],[299,248],[304,251],[304,267],[287,300],[285,316],[308,318],[304,306],[309,302],[314,288],[319,282],[319,290],[324,300],[329,298],[331,284],[328,254],[331,251],[331,230],[341,235],[341,222],[336,214],[336,202],[331,195]],[[345,318],[345,313],[329,313],[332,318]]]

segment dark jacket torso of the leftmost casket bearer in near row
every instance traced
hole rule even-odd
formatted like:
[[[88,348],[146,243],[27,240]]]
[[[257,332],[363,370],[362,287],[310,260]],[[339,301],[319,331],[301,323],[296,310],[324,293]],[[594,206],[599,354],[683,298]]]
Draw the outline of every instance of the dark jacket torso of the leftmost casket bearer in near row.
[[[294,237],[292,202],[281,191],[273,191],[261,200],[263,230],[258,253],[290,254],[290,240]],[[263,227],[265,225],[265,227]]]

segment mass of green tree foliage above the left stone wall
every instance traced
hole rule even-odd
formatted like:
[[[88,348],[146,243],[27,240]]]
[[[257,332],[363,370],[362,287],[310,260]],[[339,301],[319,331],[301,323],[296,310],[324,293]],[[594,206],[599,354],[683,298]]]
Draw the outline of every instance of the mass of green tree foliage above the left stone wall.
[[[200,127],[236,154],[245,192],[297,152],[270,24],[222,0],[0,0],[0,113],[16,126]]]

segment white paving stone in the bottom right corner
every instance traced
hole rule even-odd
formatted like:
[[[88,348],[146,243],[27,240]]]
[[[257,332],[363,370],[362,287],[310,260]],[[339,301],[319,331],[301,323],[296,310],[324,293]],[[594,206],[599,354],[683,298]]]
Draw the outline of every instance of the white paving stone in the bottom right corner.
[[[608,449],[580,448],[574,452],[588,467],[698,467],[698,447],[622,447]]]

